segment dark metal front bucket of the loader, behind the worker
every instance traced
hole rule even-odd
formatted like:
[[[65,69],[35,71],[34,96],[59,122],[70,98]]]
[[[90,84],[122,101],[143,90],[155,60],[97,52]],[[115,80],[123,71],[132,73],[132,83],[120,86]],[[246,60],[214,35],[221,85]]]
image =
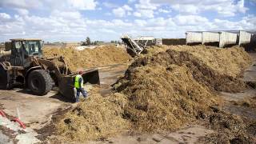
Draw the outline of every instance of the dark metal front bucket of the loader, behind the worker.
[[[62,77],[58,82],[59,92],[67,99],[75,102],[76,90],[74,89],[74,78],[76,74],[70,74]],[[82,74],[85,83],[100,84],[98,70],[86,70]]]

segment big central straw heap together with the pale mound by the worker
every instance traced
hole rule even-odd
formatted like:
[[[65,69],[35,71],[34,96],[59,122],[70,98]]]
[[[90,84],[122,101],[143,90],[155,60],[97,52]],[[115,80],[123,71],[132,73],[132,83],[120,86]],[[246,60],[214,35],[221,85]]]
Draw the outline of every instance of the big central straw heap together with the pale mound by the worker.
[[[240,54],[246,53],[230,61]],[[238,78],[220,73],[189,50],[166,49],[136,58],[114,85],[121,94],[106,98],[92,94],[67,113],[58,127],[60,134],[76,141],[111,137],[130,129],[141,133],[174,130],[217,105],[217,91],[236,92],[244,87]]]

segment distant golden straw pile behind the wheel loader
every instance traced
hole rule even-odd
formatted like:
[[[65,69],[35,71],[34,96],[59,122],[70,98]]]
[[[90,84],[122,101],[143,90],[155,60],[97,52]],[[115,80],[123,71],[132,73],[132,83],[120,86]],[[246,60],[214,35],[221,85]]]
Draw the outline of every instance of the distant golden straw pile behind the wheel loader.
[[[96,47],[94,49],[75,50],[73,47],[68,48],[47,48],[43,50],[46,58],[58,54],[63,56],[72,71],[86,69],[92,66],[106,66],[127,62],[130,55],[126,50],[117,48],[112,45]]]

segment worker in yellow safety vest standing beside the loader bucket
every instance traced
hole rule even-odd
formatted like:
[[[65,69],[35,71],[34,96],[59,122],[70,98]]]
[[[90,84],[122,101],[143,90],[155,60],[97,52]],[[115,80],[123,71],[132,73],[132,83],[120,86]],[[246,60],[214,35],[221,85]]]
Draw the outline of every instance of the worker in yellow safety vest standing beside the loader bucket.
[[[83,79],[82,79],[82,71],[79,71],[79,74],[74,78],[74,87],[77,90],[77,96],[75,98],[75,102],[79,102],[80,93],[82,93],[83,97],[86,98],[87,92],[83,88]]]

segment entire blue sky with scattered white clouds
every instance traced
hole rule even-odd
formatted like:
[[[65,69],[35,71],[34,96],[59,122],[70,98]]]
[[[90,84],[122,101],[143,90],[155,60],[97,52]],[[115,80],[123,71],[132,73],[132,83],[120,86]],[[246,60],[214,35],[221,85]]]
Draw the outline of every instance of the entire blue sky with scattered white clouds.
[[[1,0],[0,42],[80,42],[122,34],[184,38],[187,30],[255,30],[256,0]]]

